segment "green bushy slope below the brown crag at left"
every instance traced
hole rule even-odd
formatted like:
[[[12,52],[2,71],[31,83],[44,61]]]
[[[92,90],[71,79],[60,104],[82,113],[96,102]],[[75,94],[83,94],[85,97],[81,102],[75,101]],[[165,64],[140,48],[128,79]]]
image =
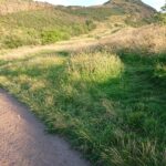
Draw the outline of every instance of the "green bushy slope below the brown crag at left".
[[[94,28],[93,21],[56,9],[9,13],[0,17],[0,49],[54,43]]]

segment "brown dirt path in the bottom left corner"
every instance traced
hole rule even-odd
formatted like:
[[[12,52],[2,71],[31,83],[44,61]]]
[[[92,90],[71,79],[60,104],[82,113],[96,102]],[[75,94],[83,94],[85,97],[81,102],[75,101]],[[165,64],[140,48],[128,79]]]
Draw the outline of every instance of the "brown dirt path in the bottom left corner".
[[[87,166],[65,141],[0,90],[0,166]]]

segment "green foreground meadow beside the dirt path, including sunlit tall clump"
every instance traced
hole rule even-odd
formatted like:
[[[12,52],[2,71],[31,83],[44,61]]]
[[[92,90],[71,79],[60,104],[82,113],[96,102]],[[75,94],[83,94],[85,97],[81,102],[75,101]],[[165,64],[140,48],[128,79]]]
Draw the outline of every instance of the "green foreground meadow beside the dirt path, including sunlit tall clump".
[[[0,61],[0,85],[93,165],[166,165],[166,54],[48,52]]]

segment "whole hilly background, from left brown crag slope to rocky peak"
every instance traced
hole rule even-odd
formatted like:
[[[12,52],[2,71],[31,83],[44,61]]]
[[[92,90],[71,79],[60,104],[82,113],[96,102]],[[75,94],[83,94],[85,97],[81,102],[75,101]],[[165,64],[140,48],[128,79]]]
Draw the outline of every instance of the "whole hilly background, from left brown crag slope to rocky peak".
[[[115,15],[122,18],[124,27],[138,27],[151,23],[155,12],[141,0],[111,0],[89,8],[0,0],[0,49],[68,40],[87,33],[95,28],[94,22],[107,20],[116,24]]]

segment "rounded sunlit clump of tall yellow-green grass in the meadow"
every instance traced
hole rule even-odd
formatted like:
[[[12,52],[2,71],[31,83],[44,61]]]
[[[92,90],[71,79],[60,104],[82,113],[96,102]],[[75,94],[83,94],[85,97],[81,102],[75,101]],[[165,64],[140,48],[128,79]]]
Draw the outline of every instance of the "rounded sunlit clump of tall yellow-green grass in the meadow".
[[[73,55],[68,64],[73,77],[84,81],[105,82],[121,75],[123,64],[118,56],[107,52]],[[74,75],[73,75],[74,74]]]

